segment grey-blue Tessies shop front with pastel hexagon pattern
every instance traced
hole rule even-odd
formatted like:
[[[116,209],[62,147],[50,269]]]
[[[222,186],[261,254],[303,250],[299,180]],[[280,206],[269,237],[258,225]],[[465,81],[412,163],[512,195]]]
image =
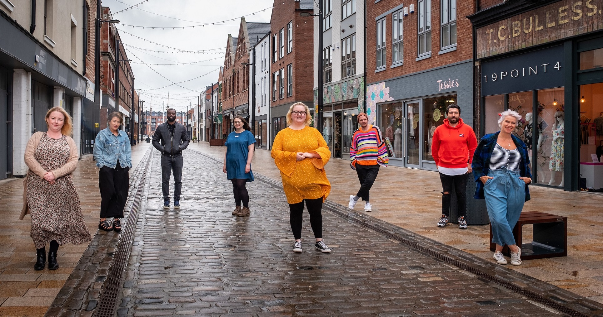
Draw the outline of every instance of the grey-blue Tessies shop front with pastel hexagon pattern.
[[[369,122],[385,138],[390,165],[436,170],[431,143],[446,107],[459,105],[464,123],[473,126],[472,72],[465,61],[367,85]]]

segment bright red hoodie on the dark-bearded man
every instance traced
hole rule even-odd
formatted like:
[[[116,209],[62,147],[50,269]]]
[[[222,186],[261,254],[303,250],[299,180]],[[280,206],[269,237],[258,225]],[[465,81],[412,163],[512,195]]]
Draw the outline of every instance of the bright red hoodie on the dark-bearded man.
[[[447,168],[467,167],[473,161],[473,152],[478,147],[478,138],[473,129],[459,118],[456,126],[450,126],[449,120],[435,128],[431,145],[431,156],[435,165]]]

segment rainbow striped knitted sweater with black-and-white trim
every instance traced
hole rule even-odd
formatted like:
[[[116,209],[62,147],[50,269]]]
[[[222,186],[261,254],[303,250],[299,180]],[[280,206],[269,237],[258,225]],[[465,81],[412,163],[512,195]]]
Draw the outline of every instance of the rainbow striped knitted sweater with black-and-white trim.
[[[350,160],[352,168],[359,165],[381,165],[387,166],[387,148],[381,135],[379,127],[370,125],[367,131],[357,129],[352,135],[350,145]]]

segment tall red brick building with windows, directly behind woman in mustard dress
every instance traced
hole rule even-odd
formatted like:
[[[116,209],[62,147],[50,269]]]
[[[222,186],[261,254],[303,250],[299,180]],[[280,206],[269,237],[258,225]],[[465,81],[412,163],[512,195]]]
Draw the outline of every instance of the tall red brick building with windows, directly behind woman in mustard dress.
[[[286,128],[285,116],[295,102],[312,106],[312,0],[274,1],[270,17],[271,42],[268,45],[268,98],[270,98],[271,136]]]

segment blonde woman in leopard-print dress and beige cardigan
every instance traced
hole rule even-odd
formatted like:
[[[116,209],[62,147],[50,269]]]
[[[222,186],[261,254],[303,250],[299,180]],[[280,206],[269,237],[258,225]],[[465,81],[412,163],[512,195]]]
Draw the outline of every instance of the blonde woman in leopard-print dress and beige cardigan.
[[[21,219],[31,214],[31,238],[37,251],[34,269],[44,269],[49,243],[48,269],[57,269],[59,245],[92,240],[84,223],[71,173],[77,167],[78,150],[72,134],[71,117],[63,108],[46,112],[47,132],[36,132],[25,149],[30,168],[26,180],[27,206]]]

